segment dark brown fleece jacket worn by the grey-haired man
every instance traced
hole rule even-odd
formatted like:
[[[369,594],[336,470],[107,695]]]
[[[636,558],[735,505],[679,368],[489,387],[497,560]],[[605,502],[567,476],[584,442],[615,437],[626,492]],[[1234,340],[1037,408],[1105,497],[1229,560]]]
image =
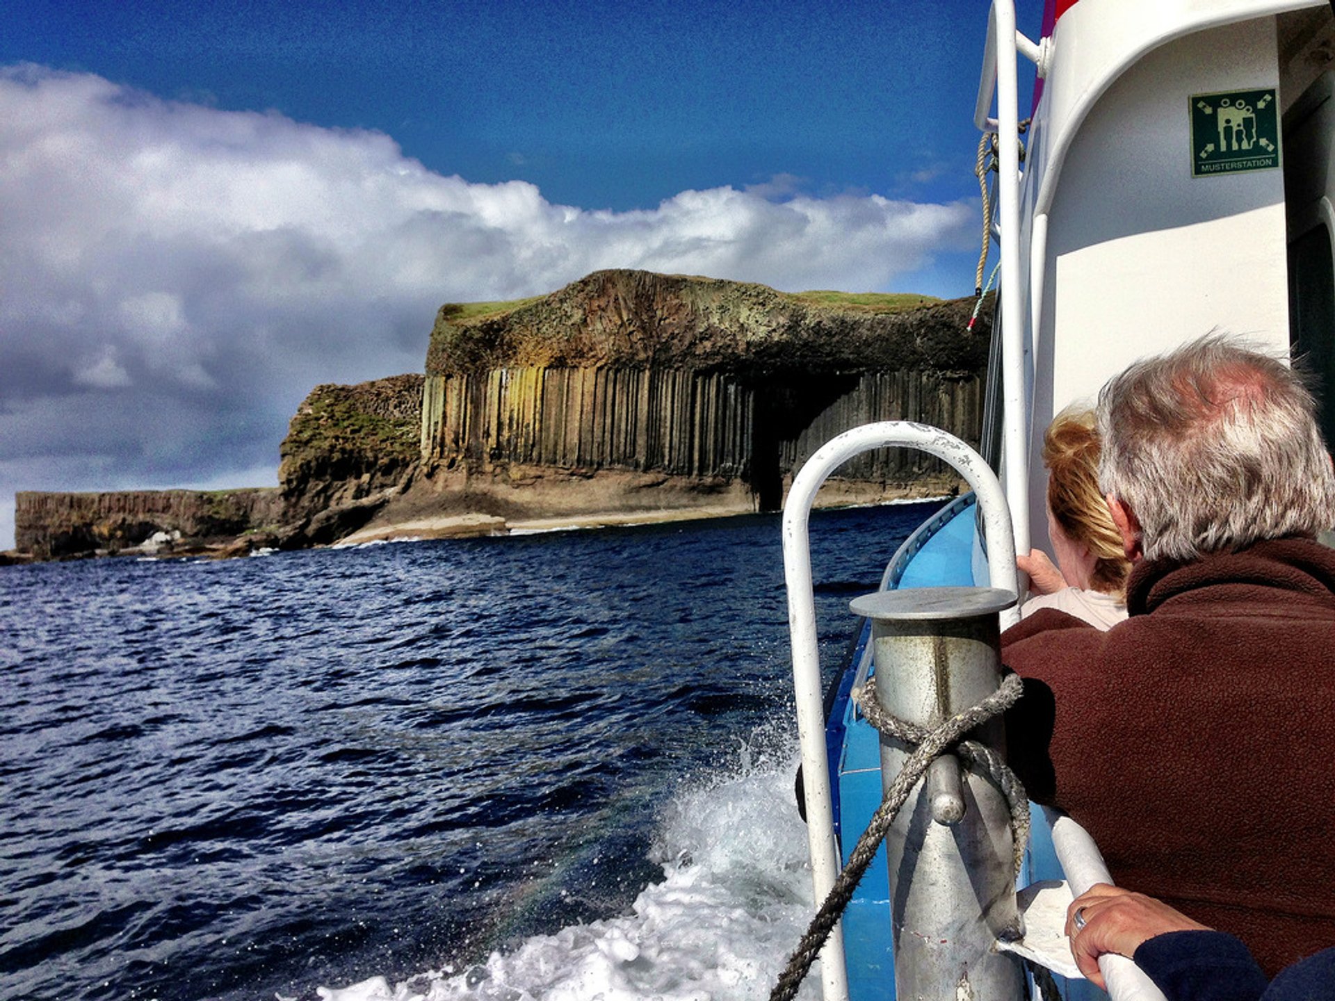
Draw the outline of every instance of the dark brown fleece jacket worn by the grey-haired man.
[[[1107,633],[1045,609],[1007,630],[1031,798],[1112,878],[1242,938],[1267,976],[1335,945],[1335,550],[1258,543],[1139,563]]]

